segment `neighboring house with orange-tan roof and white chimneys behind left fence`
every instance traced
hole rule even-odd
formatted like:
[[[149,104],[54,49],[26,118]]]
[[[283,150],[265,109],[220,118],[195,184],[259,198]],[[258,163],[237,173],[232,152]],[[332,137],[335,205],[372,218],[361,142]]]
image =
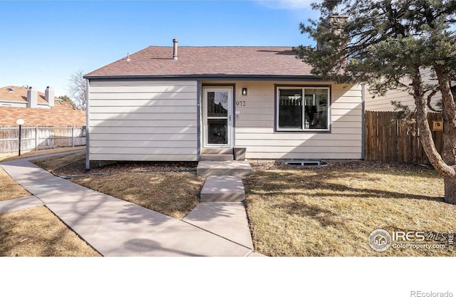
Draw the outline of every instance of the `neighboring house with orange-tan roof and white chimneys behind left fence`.
[[[0,126],[15,126],[19,118],[26,126],[86,125],[86,111],[55,98],[52,88],[46,93],[11,85],[0,88]]]

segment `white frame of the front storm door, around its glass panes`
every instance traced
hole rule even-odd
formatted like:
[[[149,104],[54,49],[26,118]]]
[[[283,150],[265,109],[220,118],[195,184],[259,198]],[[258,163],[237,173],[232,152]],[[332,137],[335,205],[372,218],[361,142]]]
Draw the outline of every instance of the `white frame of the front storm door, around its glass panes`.
[[[217,92],[217,91],[227,91],[228,92],[228,108],[227,108],[227,144],[209,144],[207,143],[208,137],[207,137],[207,132],[208,132],[208,126],[207,126],[207,120],[212,119],[211,117],[207,117],[207,93],[208,92]],[[224,119],[224,117],[213,117],[213,118],[220,118]],[[211,86],[211,87],[203,87],[202,91],[202,136],[203,136],[203,147],[214,147],[214,148],[231,148],[233,147],[233,87],[227,87],[227,86]]]

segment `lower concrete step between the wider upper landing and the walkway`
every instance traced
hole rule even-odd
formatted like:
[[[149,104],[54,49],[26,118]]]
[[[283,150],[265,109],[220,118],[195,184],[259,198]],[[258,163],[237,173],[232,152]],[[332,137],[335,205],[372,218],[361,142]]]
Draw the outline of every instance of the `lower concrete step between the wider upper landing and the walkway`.
[[[199,194],[201,202],[236,202],[245,199],[241,177],[209,176]]]

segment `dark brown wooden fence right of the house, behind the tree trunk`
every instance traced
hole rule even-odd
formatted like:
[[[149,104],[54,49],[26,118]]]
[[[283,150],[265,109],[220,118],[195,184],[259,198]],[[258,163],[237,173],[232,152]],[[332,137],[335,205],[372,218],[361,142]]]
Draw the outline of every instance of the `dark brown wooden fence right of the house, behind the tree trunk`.
[[[441,113],[428,113],[432,120],[441,120]],[[442,152],[442,131],[432,131],[435,147]],[[429,164],[420,142],[417,123],[404,124],[395,112],[366,112],[365,160]]]

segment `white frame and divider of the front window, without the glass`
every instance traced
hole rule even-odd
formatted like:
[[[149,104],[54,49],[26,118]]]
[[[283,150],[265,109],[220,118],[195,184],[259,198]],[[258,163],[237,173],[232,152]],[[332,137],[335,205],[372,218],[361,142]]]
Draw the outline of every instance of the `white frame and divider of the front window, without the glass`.
[[[280,113],[280,90],[301,90],[302,91],[302,127],[299,128],[281,128],[279,127],[279,113]],[[306,129],[305,125],[305,112],[304,108],[306,107],[306,97],[305,97],[305,90],[306,89],[321,89],[321,90],[328,90],[328,106],[327,111],[328,114],[326,116],[326,129]],[[294,85],[294,86],[280,86],[276,87],[276,131],[277,132],[329,132],[331,124],[331,87],[330,86],[303,86],[303,85]]]

